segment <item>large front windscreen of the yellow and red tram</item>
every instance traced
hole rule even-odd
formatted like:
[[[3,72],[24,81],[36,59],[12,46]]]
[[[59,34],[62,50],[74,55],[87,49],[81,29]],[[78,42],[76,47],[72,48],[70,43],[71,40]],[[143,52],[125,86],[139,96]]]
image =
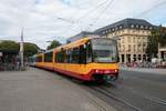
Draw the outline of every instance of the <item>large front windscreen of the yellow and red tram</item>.
[[[117,62],[117,46],[112,39],[92,39],[94,62]]]

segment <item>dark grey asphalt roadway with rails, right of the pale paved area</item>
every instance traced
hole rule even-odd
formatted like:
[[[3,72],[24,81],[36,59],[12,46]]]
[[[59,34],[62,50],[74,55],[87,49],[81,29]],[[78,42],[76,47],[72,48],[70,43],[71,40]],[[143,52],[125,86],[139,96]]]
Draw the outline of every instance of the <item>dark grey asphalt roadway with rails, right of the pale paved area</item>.
[[[165,81],[163,73],[121,70],[117,81],[87,90],[118,111],[165,111]]]

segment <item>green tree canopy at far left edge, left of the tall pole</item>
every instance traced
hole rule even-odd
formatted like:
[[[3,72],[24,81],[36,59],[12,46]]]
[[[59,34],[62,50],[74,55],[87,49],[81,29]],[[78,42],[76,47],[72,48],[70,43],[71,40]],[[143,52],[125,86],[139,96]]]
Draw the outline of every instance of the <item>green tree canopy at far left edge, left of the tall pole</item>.
[[[4,40],[0,42],[0,50],[4,52],[19,52],[19,44],[11,40]]]

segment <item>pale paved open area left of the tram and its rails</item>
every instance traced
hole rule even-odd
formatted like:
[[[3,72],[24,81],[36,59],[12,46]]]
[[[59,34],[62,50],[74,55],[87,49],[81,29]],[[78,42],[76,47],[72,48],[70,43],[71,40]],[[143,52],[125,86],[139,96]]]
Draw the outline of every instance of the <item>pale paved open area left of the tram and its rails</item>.
[[[55,72],[35,68],[27,71],[0,72],[0,111],[105,111],[105,109],[115,111]]]

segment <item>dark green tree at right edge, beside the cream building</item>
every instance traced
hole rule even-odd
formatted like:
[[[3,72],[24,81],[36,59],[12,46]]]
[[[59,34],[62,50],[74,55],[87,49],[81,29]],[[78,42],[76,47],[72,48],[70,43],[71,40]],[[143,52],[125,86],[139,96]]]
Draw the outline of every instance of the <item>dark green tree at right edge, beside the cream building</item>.
[[[152,34],[147,39],[146,54],[152,59],[153,57],[157,58],[158,44],[166,43],[166,29],[159,26],[156,29],[152,30]]]

